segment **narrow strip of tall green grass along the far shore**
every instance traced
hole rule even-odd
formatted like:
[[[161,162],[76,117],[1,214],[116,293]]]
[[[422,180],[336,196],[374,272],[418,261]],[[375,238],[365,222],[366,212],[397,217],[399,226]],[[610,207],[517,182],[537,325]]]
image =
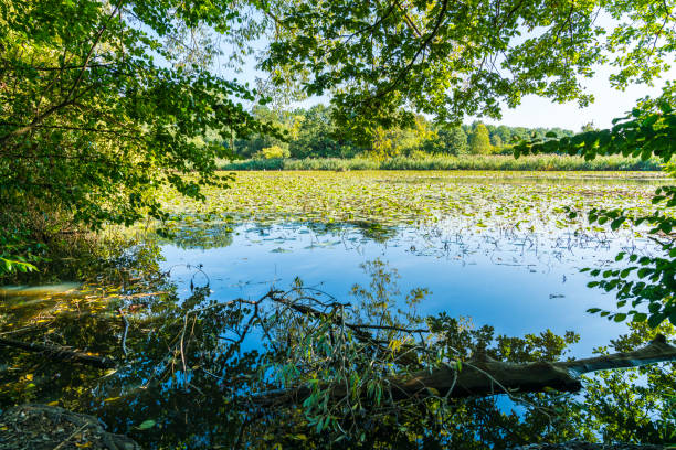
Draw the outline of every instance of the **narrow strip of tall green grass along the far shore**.
[[[662,170],[661,161],[636,158],[599,157],[591,161],[583,158],[538,154],[515,159],[511,156],[425,156],[422,158],[397,157],[384,161],[355,159],[270,159],[224,161],[222,170],[542,170],[542,171],[652,171]]]

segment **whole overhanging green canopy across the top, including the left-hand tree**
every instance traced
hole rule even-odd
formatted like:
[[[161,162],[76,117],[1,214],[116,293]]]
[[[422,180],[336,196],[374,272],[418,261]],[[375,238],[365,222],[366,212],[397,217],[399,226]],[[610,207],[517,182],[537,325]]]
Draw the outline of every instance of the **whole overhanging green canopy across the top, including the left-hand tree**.
[[[160,216],[154,189],[199,197],[200,184],[226,182],[214,174],[221,142],[275,129],[237,103],[265,97],[211,69],[218,36],[241,55],[266,33],[261,67],[277,89],[332,94],[332,124],[320,108],[297,124],[298,142],[323,140],[291,154],[335,152],[334,127],[388,153],[387,130],[415,129],[414,111],[499,117],[528,94],[585,105],[582,78],[605,61],[616,86],[653,81],[674,45],[672,11],[647,0],[2,0],[0,201],[14,217],[44,204],[96,227]]]

